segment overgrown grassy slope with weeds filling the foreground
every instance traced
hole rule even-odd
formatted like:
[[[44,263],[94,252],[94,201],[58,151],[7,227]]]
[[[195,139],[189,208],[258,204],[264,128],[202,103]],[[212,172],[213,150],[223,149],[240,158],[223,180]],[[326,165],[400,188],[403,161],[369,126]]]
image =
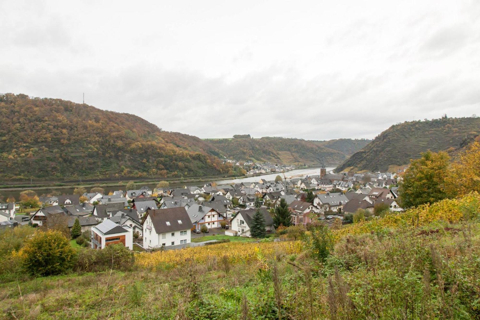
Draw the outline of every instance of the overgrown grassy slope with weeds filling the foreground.
[[[479,227],[352,235],[323,263],[277,252],[253,264],[12,279],[0,283],[0,318],[478,319]]]

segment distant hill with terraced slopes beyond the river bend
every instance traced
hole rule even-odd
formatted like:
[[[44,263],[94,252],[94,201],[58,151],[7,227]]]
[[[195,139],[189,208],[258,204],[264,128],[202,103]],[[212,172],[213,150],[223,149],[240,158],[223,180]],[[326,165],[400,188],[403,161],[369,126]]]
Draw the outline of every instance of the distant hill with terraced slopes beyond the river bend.
[[[280,137],[260,139],[208,139],[212,146],[236,160],[271,161],[286,164],[340,163],[370,140],[337,139],[310,141]]]

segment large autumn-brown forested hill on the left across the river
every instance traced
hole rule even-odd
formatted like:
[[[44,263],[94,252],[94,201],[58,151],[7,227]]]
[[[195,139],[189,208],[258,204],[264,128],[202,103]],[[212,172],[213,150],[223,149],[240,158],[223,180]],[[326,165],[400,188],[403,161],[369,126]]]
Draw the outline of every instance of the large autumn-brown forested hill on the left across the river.
[[[233,173],[215,147],[132,114],[4,94],[0,118],[1,179]]]

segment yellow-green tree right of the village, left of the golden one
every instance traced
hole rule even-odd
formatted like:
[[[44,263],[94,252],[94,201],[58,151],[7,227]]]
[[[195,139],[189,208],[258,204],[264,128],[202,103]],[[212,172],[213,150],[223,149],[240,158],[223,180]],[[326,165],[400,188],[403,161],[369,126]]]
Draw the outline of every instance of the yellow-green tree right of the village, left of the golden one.
[[[417,207],[447,197],[444,190],[450,157],[446,152],[427,151],[421,158],[411,160],[399,188],[402,208]]]

